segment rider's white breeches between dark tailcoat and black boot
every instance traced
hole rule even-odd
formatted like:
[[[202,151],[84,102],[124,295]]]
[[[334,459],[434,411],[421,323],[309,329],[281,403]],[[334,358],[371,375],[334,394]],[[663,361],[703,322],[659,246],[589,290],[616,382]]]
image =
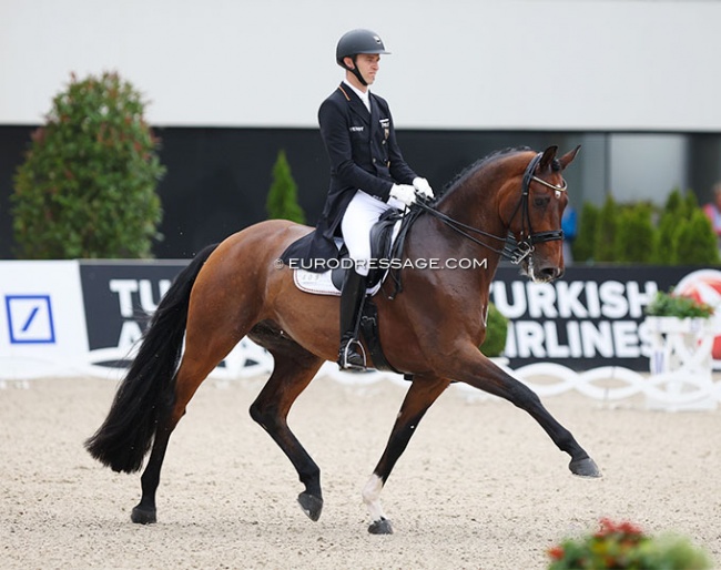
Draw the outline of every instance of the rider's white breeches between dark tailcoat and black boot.
[[[404,210],[404,204],[392,197],[388,203],[380,202],[362,190],[356,191],[341,222],[343,240],[348,248],[348,255],[355,262],[355,271],[368,275],[370,262],[370,228],[380,214],[386,210],[397,207]]]

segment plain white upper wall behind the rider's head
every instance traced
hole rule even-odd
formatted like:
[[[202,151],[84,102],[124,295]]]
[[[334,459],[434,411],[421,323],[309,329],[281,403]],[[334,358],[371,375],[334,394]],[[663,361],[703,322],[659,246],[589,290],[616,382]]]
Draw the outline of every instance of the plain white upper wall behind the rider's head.
[[[351,28],[402,128],[721,131],[721,2],[0,0],[0,124],[116,70],[155,125],[315,126]]]

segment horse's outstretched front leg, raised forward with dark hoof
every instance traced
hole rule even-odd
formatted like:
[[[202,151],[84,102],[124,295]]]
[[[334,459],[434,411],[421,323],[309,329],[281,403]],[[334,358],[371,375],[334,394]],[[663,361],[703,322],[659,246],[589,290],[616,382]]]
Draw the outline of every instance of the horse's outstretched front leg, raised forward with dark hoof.
[[[572,434],[550,415],[538,395],[501,368],[484,357],[473,347],[467,358],[454,358],[454,379],[507,399],[514,406],[526,410],[550,436],[556,446],[571,456],[569,469],[581,477],[600,477],[596,462],[576,441]]]

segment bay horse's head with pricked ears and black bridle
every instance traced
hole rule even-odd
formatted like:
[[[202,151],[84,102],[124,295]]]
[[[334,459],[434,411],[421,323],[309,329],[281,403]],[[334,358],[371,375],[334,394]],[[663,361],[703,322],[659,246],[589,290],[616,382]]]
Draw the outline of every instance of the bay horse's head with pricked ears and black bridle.
[[[561,216],[568,196],[562,172],[579,149],[559,157],[558,146],[536,155],[520,154],[518,160],[525,169],[521,191],[517,176],[501,190],[500,215],[518,244],[514,261],[532,281],[548,282],[563,274]]]

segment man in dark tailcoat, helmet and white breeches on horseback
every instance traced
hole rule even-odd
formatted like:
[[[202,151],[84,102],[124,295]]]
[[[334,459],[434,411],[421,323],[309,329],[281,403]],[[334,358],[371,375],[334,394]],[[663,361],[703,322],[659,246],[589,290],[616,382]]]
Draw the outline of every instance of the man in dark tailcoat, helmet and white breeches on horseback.
[[[380,38],[369,30],[345,33],[336,48],[345,79],[318,111],[331,161],[331,187],[316,236],[322,232],[332,240],[339,227],[354,261],[341,293],[341,368],[365,367],[357,335],[370,262],[370,227],[386,210],[413,204],[416,192],[434,196],[428,181],[400,154],[388,103],[368,90],[380,54],[387,53]]]

